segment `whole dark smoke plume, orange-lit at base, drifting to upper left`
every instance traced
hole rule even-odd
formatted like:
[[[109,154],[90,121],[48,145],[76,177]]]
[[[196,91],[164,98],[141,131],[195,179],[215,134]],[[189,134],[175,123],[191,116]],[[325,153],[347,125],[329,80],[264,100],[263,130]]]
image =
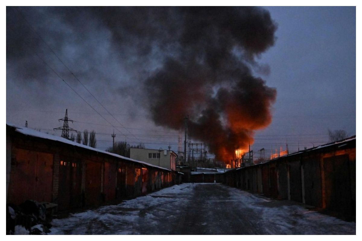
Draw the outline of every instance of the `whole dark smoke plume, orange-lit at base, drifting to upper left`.
[[[140,86],[135,99],[156,125],[180,129],[189,116],[190,137],[220,159],[230,160],[271,121],[276,91],[251,69],[268,73],[255,57],[275,42],[277,26],[262,8],[7,7],[7,70],[16,81],[41,75],[47,84],[49,69],[34,53],[59,63],[42,55],[46,46],[23,16],[85,81],[123,94]],[[124,86],[119,72],[132,84]]]

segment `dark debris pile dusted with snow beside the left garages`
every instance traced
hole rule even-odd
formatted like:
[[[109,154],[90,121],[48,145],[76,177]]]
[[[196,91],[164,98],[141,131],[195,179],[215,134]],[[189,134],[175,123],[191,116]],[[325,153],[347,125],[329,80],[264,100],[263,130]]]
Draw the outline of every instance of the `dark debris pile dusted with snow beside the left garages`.
[[[6,233],[17,234],[16,230],[20,230],[21,234],[47,234],[56,208],[54,203],[33,200],[26,200],[19,206],[7,205]]]

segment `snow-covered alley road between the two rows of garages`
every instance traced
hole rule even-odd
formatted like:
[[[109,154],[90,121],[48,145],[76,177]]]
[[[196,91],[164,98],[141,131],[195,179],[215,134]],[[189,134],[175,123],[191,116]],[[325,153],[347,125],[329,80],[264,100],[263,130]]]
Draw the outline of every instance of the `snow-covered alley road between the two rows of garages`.
[[[354,222],[222,184],[181,184],[54,219],[50,234],[355,234]]]

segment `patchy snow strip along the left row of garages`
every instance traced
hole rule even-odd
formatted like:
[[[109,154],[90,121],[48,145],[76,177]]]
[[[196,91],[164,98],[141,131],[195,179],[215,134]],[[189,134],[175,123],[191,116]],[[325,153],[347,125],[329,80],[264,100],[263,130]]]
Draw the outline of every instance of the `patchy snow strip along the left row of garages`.
[[[49,234],[139,234],[147,223],[155,229],[163,215],[175,206],[187,205],[183,195],[191,195],[193,184],[174,185],[146,196],[126,200],[119,205],[102,206],[64,219],[54,219]],[[169,219],[175,218],[168,215]]]

